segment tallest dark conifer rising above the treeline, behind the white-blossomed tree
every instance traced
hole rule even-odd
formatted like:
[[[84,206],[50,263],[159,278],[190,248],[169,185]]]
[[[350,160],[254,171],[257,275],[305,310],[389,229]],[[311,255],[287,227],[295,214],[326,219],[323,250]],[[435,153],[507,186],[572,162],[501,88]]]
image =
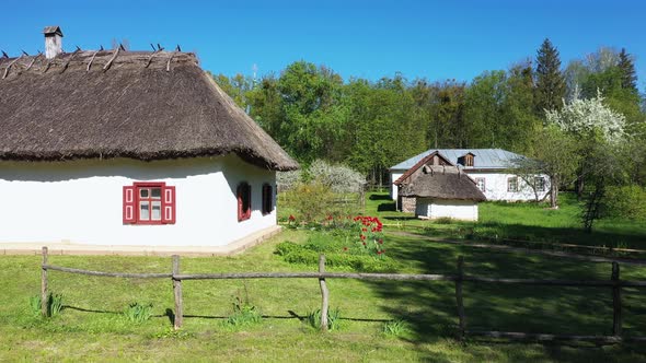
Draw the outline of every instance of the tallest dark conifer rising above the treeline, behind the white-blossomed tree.
[[[560,109],[565,96],[565,79],[561,73],[558,50],[545,38],[537,52],[535,106],[540,116],[545,109]]]

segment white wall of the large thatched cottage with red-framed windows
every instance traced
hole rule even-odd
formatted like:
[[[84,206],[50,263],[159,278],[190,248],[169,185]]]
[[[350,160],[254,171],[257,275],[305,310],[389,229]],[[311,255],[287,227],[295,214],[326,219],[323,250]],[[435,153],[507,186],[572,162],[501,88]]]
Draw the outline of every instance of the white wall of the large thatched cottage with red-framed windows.
[[[175,186],[175,224],[123,223],[123,187],[134,182]],[[241,182],[252,187],[252,215],[238,222]],[[276,209],[261,211],[264,183],[275,190],[276,173],[237,155],[0,162],[0,243],[222,246],[276,224]]]

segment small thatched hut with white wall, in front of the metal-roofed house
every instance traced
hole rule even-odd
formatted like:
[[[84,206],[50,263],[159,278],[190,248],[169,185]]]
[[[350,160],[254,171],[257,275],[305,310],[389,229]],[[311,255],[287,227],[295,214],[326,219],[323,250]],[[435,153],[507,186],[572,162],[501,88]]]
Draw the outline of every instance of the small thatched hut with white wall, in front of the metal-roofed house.
[[[469,175],[449,165],[425,165],[400,192],[415,197],[415,214],[422,219],[477,221],[477,203],[486,200]]]

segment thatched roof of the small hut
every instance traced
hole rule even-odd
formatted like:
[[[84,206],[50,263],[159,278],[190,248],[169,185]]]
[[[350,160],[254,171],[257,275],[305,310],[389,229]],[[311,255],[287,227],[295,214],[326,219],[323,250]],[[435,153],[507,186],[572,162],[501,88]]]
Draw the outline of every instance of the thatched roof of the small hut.
[[[424,166],[424,173],[400,191],[404,197],[484,201],[475,182],[457,166]]]

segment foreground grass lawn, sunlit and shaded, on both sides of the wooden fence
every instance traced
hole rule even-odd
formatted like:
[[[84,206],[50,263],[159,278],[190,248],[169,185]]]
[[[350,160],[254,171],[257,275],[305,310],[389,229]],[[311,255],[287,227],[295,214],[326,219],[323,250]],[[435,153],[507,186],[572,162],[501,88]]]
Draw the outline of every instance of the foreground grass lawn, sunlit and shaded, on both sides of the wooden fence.
[[[522,215],[544,212],[532,206],[492,203],[481,209],[483,219],[487,218],[488,208],[508,211],[498,221],[518,221]],[[520,216],[514,215],[514,208],[523,209]],[[402,214],[385,209],[388,201],[380,195],[368,200],[368,212],[378,212],[385,222],[427,223],[395,220]],[[565,214],[567,209],[556,212]],[[455,225],[437,227],[440,234],[441,229]],[[610,226],[599,229],[612,233]],[[462,255],[466,272],[472,274],[610,277],[609,264],[423,243],[411,236],[389,234],[388,226],[385,231],[388,254],[400,272],[453,273],[457,257]],[[643,235],[641,227],[634,231]],[[286,230],[234,257],[183,258],[182,271],[311,271],[312,267],[285,262],[274,250],[280,242],[303,243],[313,233],[319,232]],[[50,256],[49,261],[104,271],[166,272],[171,268],[170,258],[158,257]],[[452,338],[457,317],[454,285],[449,282],[330,280],[331,307],[341,309],[342,325],[337,330],[321,333],[302,321],[320,306],[315,280],[185,281],[184,328],[175,333],[170,329],[173,298],[169,280],[93,278],[51,271],[49,286],[64,295],[66,306],[61,315],[43,320],[31,313],[28,304],[30,297],[39,291],[39,273],[38,256],[0,257],[0,361],[646,361],[646,348],[636,344],[459,342]],[[646,268],[622,266],[622,279],[646,280]],[[246,328],[226,325],[234,297],[246,295],[261,309],[263,321]],[[608,335],[612,328],[610,289],[465,283],[464,296],[471,328],[584,335]],[[623,301],[625,333],[646,335],[645,291],[624,289]],[[120,312],[132,302],[152,303],[153,317],[140,325],[127,321]],[[397,319],[406,321],[407,331],[399,337],[385,336],[384,323]]]

